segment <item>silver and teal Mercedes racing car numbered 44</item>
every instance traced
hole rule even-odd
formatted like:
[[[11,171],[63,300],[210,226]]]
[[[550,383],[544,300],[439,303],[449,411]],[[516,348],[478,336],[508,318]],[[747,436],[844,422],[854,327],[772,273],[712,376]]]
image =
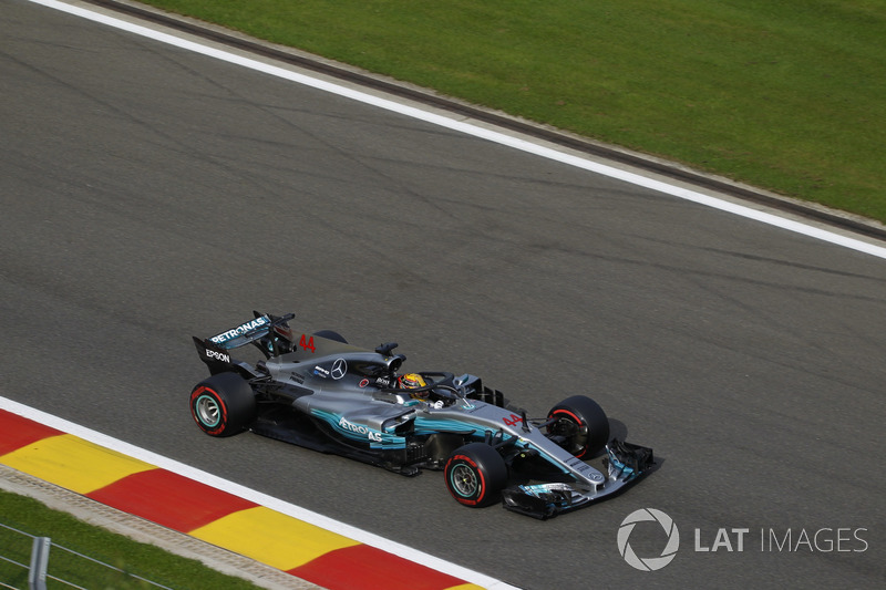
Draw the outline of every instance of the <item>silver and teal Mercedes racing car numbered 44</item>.
[[[293,331],[292,313],[253,314],[194,337],[210,376],[190,392],[190,414],[208,435],[248,429],[406,476],[442,470],[464,506],[501,500],[540,519],[610,497],[655,466],[651,448],[609,438],[590,397],[529,418],[476,375],[401,373],[395,342],[362,349],[330,330]],[[259,360],[235,359],[247,345]],[[599,455],[604,470],[586,462]]]

